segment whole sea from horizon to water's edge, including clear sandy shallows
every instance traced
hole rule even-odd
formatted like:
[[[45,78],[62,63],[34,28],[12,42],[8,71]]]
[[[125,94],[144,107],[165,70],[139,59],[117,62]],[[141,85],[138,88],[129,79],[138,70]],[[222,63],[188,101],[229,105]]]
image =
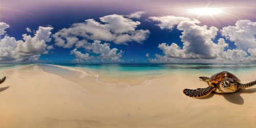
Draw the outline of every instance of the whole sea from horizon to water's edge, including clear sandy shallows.
[[[150,79],[168,74],[189,74],[191,77],[210,77],[221,71],[228,71],[236,76],[256,71],[254,64],[54,64],[60,68],[79,71],[86,75],[95,76],[97,82],[115,84],[118,87],[137,86]],[[44,66],[44,65],[42,65]],[[49,69],[49,68],[48,68]],[[46,69],[45,69],[46,70]],[[51,69],[57,70],[57,69]],[[56,71],[54,71],[56,73]],[[65,74],[65,71],[58,71]],[[62,73],[61,73],[62,72]]]

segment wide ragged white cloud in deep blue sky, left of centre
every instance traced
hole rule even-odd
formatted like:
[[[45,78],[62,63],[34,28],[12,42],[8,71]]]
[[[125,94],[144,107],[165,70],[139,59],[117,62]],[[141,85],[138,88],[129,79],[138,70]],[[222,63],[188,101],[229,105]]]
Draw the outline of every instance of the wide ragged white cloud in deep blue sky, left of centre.
[[[136,30],[140,22],[125,18],[123,15],[107,15],[99,19],[100,22],[96,22],[94,19],[87,19],[85,23],[75,23],[70,28],[59,30],[53,35],[55,45],[63,48],[82,46],[79,44],[81,43],[79,38],[128,45],[132,41],[142,43],[150,34],[148,30]]]

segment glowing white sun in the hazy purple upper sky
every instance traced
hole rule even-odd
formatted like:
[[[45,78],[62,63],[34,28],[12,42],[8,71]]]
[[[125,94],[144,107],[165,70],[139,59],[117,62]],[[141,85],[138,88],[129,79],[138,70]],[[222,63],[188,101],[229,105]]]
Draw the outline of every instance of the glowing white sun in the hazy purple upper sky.
[[[219,8],[195,8],[188,10],[189,13],[196,14],[196,15],[218,15],[223,13],[223,11]]]

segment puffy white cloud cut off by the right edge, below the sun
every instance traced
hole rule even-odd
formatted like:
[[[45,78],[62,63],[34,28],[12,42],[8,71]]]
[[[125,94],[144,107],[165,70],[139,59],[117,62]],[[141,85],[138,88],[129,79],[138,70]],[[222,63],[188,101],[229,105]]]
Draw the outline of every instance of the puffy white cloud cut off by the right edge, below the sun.
[[[221,30],[223,36],[234,41],[237,49],[247,51],[256,48],[256,22],[239,20],[236,26],[224,27]]]

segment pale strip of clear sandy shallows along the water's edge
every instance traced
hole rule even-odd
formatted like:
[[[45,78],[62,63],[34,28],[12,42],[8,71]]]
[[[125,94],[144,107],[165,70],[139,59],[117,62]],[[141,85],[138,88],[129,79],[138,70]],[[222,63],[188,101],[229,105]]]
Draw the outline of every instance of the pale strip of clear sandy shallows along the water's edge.
[[[211,71],[210,73],[207,73],[206,71],[198,71],[198,69],[190,69],[190,70],[179,70],[179,71],[174,70],[174,71],[165,72],[162,75],[156,74],[156,75],[153,75],[153,76],[144,76],[142,78],[129,78],[129,77],[115,78],[114,76],[108,76],[106,74],[99,74],[96,71],[90,71],[90,70],[73,68],[73,67],[65,67],[65,66],[59,66],[59,65],[49,65],[49,66],[55,66],[55,67],[62,68],[62,69],[81,72],[83,74],[95,77],[95,81],[100,83],[100,84],[112,85],[112,86],[115,86],[116,88],[142,86],[143,84],[147,83],[148,81],[150,81],[152,79],[157,79],[157,78],[172,76],[172,75],[189,74],[191,77],[198,78],[199,76],[211,77],[215,73],[220,72],[220,71],[217,70],[217,71],[214,71],[214,72]],[[196,72],[196,74],[195,74],[195,72]],[[254,71],[253,70],[249,70],[249,71],[248,70],[246,70],[246,71],[244,71],[244,70],[233,70],[233,71],[229,71],[229,72],[238,76],[238,77],[242,77],[243,74],[253,73]],[[131,81],[133,81],[133,82],[131,82]]]

